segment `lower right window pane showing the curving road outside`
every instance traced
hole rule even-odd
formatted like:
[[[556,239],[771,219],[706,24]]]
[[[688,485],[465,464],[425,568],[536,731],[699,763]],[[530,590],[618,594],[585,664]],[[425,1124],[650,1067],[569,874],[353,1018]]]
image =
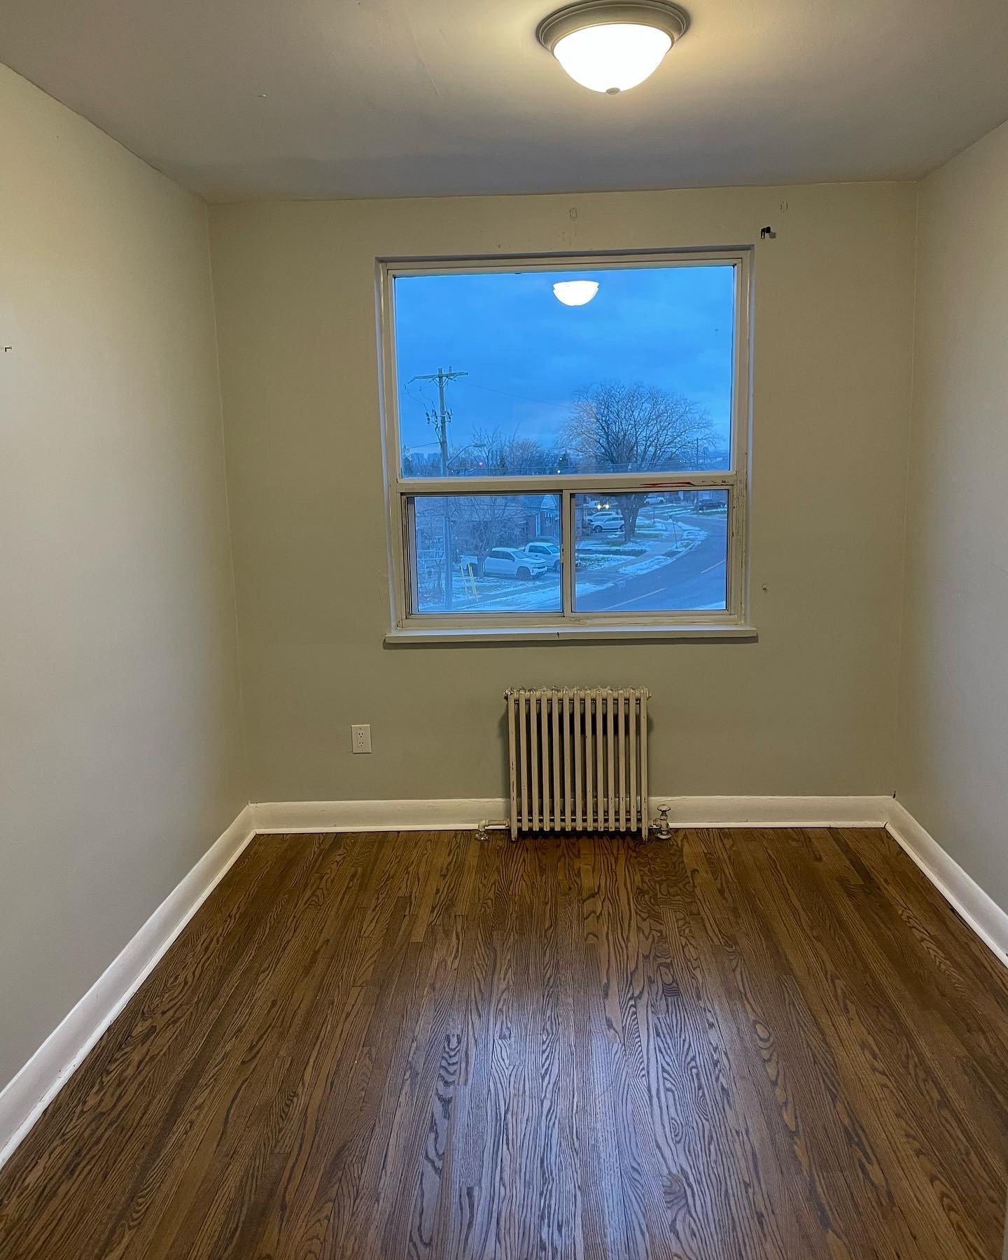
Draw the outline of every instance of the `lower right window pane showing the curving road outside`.
[[[728,491],[575,495],[577,612],[727,607]]]

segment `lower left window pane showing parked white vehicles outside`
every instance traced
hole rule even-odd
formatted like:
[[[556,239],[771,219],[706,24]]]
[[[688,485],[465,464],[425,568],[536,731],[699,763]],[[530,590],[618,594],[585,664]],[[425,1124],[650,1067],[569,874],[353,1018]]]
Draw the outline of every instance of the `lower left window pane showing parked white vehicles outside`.
[[[558,494],[411,501],[415,611],[561,611]]]

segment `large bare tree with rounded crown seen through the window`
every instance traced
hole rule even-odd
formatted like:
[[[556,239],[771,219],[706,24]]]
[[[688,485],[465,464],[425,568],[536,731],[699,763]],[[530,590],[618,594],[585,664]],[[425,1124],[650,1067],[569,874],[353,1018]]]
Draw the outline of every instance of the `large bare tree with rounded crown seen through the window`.
[[[601,381],[576,397],[564,438],[582,472],[669,472],[690,466],[697,441],[709,431],[706,410],[684,394]],[[626,539],[645,498],[635,491],[615,499]]]

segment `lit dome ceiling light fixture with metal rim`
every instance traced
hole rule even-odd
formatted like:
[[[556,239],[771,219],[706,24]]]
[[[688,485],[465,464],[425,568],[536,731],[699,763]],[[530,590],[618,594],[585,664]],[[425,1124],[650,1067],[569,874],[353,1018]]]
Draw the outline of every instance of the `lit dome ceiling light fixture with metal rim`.
[[[576,83],[616,96],[653,74],[688,25],[665,0],[580,0],[543,18],[536,37]]]

